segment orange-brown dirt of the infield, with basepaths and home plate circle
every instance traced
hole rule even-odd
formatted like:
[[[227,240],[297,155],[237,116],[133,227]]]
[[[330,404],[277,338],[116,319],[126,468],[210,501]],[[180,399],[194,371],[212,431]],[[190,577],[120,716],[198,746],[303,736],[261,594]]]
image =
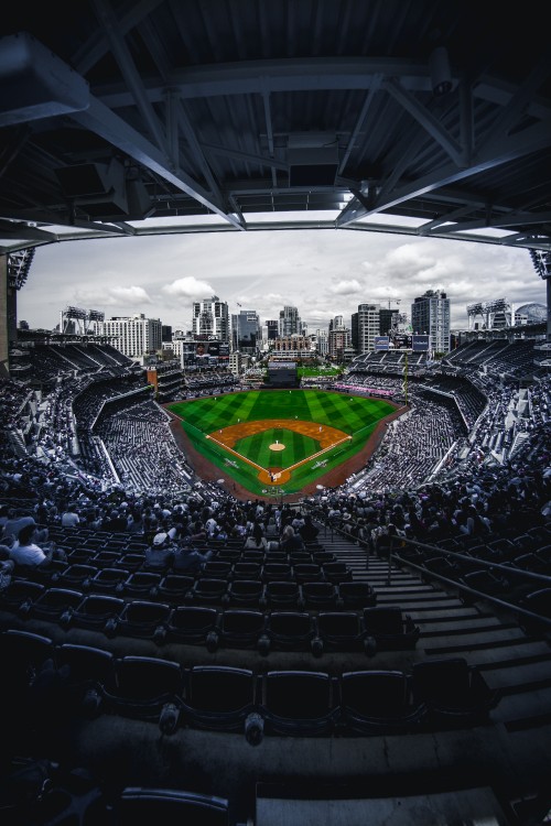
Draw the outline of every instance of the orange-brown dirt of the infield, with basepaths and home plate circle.
[[[270,452],[273,453],[274,464],[272,466],[272,464],[270,463],[270,466],[267,468],[257,465],[257,463],[252,461],[247,456],[240,454],[235,449],[235,446],[241,439],[268,430],[282,430],[300,433],[303,436],[315,439],[315,442],[317,442],[320,445],[320,449],[288,468],[276,466],[277,456],[281,455],[281,453],[285,449],[285,443],[283,438],[281,441],[277,439],[276,442],[270,444]],[[304,465],[307,461],[312,461],[313,459],[318,458],[336,445],[352,439],[352,436],[348,436],[346,433],[344,433],[344,431],[339,431],[336,427],[331,427],[326,424],[321,425],[318,422],[302,422],[292,419],[263,419],[257,422],[242,422],[239,424],[228,425],[222,431],[214,431],[213,433],[209,433],[207,438],[216,442],[218,445],[228,450],[228,453],[238,456],[242,461],[246,461],[247,464],[257,468],[258,478],[263,485],[284,485],[287,481],[289,481],[289,479],[291,478],[291,474],[295,468],[301,467],[301,465]]]

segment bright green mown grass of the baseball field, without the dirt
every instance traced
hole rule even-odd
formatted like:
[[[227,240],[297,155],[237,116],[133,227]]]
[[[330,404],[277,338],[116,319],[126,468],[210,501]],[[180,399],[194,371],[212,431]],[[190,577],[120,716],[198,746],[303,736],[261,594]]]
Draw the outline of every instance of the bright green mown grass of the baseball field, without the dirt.
[[[266,496],[274,492],[296,493],[305,485],[353,457],[365,446],[377,423],[395,412],[395,406],[381,399],[321,390],[252,390],[177,402],[169,405],[169,410],[182,419],[182,426],[196,450],[251,493]],[[267,490],[266,485],[258,479],[258,470],[240,457],[247,456],[260,467],[269,467],[274,464],[270,444],[279,441],[285,445],[285,449],[278,454],[277,464],[288,468],[317,453],[320,445],[315,438],[292,430],[270,427],[240,439],[234,447],[239,455],[206,438],[207,434],[216,437],[216,431],[229,425],[282,419],[290,422],[315,422],[321,426],[331,425],[352,438],[294,468],[284,488],[276,490]]]

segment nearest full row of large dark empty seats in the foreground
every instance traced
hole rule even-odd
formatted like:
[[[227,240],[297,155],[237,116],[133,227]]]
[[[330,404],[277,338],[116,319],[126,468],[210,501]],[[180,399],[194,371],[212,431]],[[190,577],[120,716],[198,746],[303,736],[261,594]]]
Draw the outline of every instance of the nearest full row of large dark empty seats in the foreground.
[[[155,722],[164,735],[181,727],[235,731],[255,746],[263,735],[357,736],[482,725],[500,699],[463,657],[419,661],[410,672],[255,673],[223,665],[187,667],[152,656],[119,657],[11,630],[0,634],[0,650],[14,662],[4,693],[21,718],[25,711],[36,714],[36,675],[55,673],[58,715],[120,715]],[[41,708],[47,711],[43,704]]]

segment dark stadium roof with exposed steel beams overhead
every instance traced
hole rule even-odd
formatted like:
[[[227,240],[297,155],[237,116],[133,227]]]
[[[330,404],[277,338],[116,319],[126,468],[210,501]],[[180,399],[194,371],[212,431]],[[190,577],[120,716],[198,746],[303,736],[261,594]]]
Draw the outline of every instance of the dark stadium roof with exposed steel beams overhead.
[[[541,7],[2,10],[0,250],[309,227],[551,249]]]

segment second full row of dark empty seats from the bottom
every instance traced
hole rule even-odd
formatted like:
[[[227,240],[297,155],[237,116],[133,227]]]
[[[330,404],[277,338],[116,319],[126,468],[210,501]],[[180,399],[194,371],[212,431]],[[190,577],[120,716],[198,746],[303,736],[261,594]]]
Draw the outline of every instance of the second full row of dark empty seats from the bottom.
[[[400,650],[414,648],[420,635],[409,615],[398,606],[370,607],[360,611],[217,609],[209,606],[176,606],[151,600],[125,601],[118,597],[83,595],[51,588],[19,611],[23,618],[56,622],[65,630],[84,628],[115,635],[153,640],[257,649],[324,651]]]

